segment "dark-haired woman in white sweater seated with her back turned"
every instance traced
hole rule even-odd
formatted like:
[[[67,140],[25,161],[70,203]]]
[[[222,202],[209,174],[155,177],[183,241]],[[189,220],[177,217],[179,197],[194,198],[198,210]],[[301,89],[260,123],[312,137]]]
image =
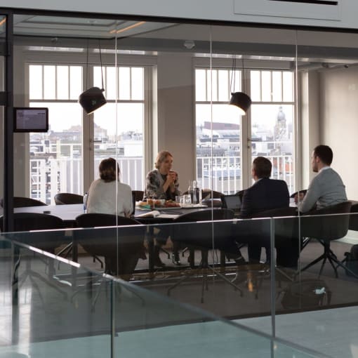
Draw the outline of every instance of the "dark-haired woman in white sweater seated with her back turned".
[[[130,217],[133,211],[132,190],[129,185],[120,183],[119,166],[116,160],[113,158],[103,159],[100,162],[99,171],[100,179],[94,180],[88,190],[87,212]],[[110,259],[113,258],[112,246],[108,246],[108,253],[104,256],[105,258],[107,256],[107,272],[117,272],[117,260]],[[123,270],[118,274],[124,279],[129,279],[138,259],[146,258],[145,248],[142,246],[140,250],[131,252],[131,254],[123,253],[118,248],[117,256]]]

